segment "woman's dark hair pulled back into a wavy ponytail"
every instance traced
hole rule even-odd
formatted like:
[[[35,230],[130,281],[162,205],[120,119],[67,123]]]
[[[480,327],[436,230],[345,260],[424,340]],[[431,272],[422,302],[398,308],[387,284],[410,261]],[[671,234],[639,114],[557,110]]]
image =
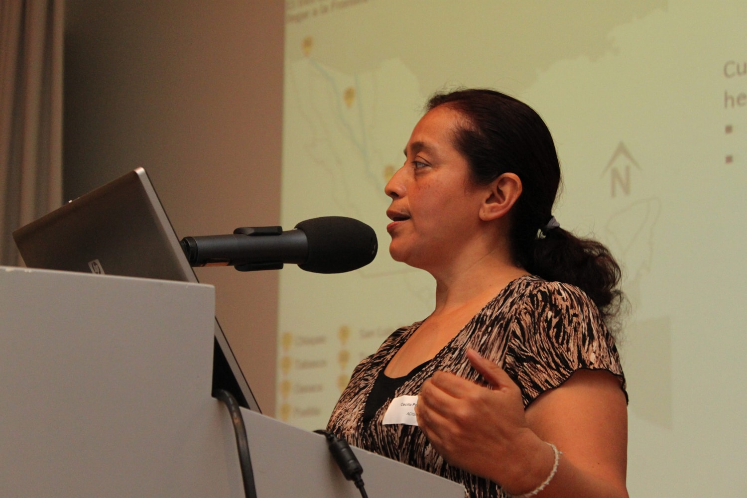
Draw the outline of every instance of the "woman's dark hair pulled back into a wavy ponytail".
[[[596,240],[546,226],[560,187],[560,164],[539,114],[495,90],[438,93],[427,110],[440,105],[463,117],[454,146],[467,158],[476,184],[489,184],[506,172],[521,179],[521,196],[510,215],[515,263],[548,281],[579,287],[612,325],[624,298],[618,288],[620,267],[610,251]]]

